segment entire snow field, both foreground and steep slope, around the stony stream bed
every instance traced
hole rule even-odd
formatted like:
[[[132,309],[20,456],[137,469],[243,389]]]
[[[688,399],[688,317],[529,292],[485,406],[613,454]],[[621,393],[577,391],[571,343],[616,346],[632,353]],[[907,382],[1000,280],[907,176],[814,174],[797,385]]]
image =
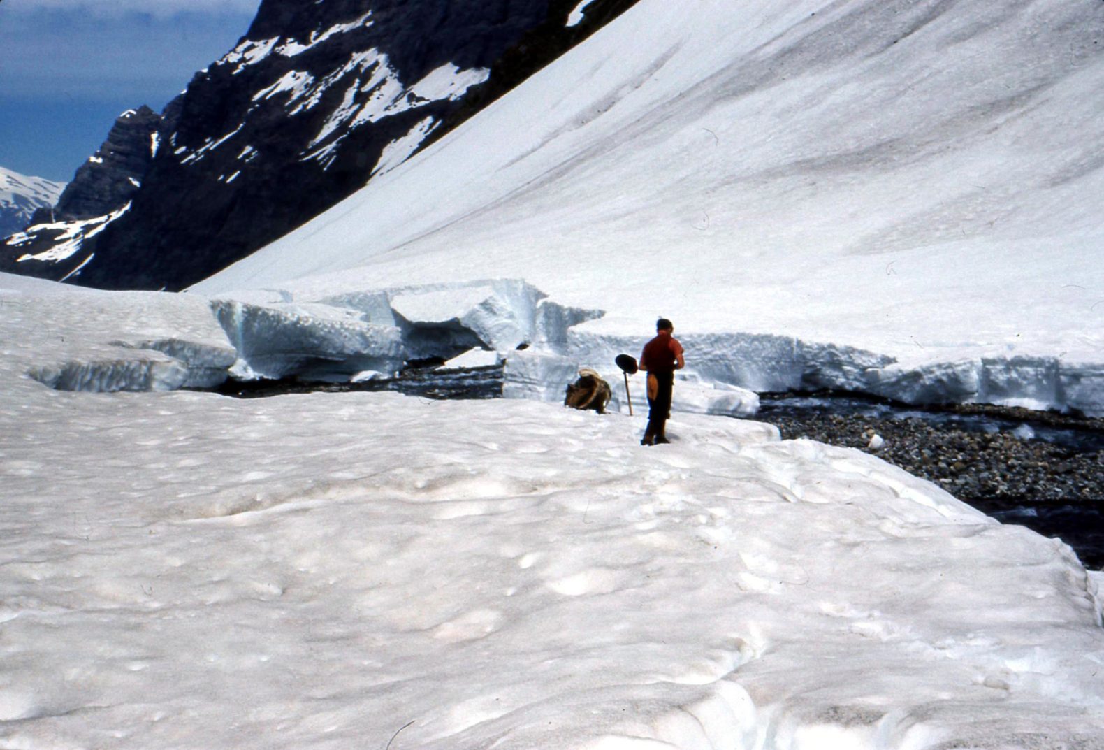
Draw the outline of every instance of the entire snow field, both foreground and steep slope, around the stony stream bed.
[[[662,314],[684,409],[796,383],[1098,414],[1098,12],[641,0],[200,285],[213,307],[3,277],[0,743],[1100,747],[1098,575],[859,452],[690,414],[644,448],[639,414],[533,401],[53,390],[486,346],[512,394],[591,365],[619,398],[603,362]]]

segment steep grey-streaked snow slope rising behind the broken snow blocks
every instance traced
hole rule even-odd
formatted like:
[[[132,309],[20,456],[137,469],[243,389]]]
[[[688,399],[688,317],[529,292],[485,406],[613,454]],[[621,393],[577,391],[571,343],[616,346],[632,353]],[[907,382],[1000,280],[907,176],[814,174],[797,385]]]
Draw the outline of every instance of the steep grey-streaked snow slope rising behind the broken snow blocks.
[[[849,373],[782,356],[739,385],[1101,414],[1102,24],[1059,0],[641,0],[197,289],[500,274],[605,310],[578,331],[611,347],[666,315],[691,362],[836,345]]]

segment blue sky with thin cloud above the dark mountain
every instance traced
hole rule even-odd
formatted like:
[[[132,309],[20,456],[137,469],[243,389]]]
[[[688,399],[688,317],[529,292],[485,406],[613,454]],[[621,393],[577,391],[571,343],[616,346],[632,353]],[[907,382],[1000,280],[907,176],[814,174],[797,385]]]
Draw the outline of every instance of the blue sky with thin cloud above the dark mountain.
[[[160,112],[234,46],[259,0],[3,0],[0,167],[72,179],[115,118]]]

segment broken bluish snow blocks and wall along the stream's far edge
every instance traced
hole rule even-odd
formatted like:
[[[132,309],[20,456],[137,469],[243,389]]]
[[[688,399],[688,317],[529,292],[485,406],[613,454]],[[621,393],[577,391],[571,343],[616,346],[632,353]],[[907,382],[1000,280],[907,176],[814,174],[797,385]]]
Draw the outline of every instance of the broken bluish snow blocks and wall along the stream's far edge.
[[[41,365],[30,374],[65,391],[212,389],[225,380],[348,381],[412,360],[498,352],[503,394],[555,401],[580,366],[616,380],[614,357],[641,336],[585,325],[604,313],[567,307],[518,279],[399,287],[298,302],[287,292],[213,299],[225,344],[168,336],[116,341],[118,357]],[[645,331],[646,332],[646,331]],[[907,367],[836,344],[764,334],[692,332],[677,410],[753,414],[754,392],[836,389],[904,403],[985,402],[1104,415],[1104,365],[1060,358],[977,358]],[[616,391],[617,389],[615,389]],[[623,399],[615,392],[612,409]]]

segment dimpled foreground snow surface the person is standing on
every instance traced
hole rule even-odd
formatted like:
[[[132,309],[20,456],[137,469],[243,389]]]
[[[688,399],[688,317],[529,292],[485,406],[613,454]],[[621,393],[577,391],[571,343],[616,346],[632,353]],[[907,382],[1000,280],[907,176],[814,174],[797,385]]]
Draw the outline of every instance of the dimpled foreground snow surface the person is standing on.
[[[26,376],[168,360],[115,344],[146,340],[229,349],[192,295],[0,277],[3,747],[1104,740],[1071,551],[878,458],[697,415],[645,448],[639,415],[532,401]]]

